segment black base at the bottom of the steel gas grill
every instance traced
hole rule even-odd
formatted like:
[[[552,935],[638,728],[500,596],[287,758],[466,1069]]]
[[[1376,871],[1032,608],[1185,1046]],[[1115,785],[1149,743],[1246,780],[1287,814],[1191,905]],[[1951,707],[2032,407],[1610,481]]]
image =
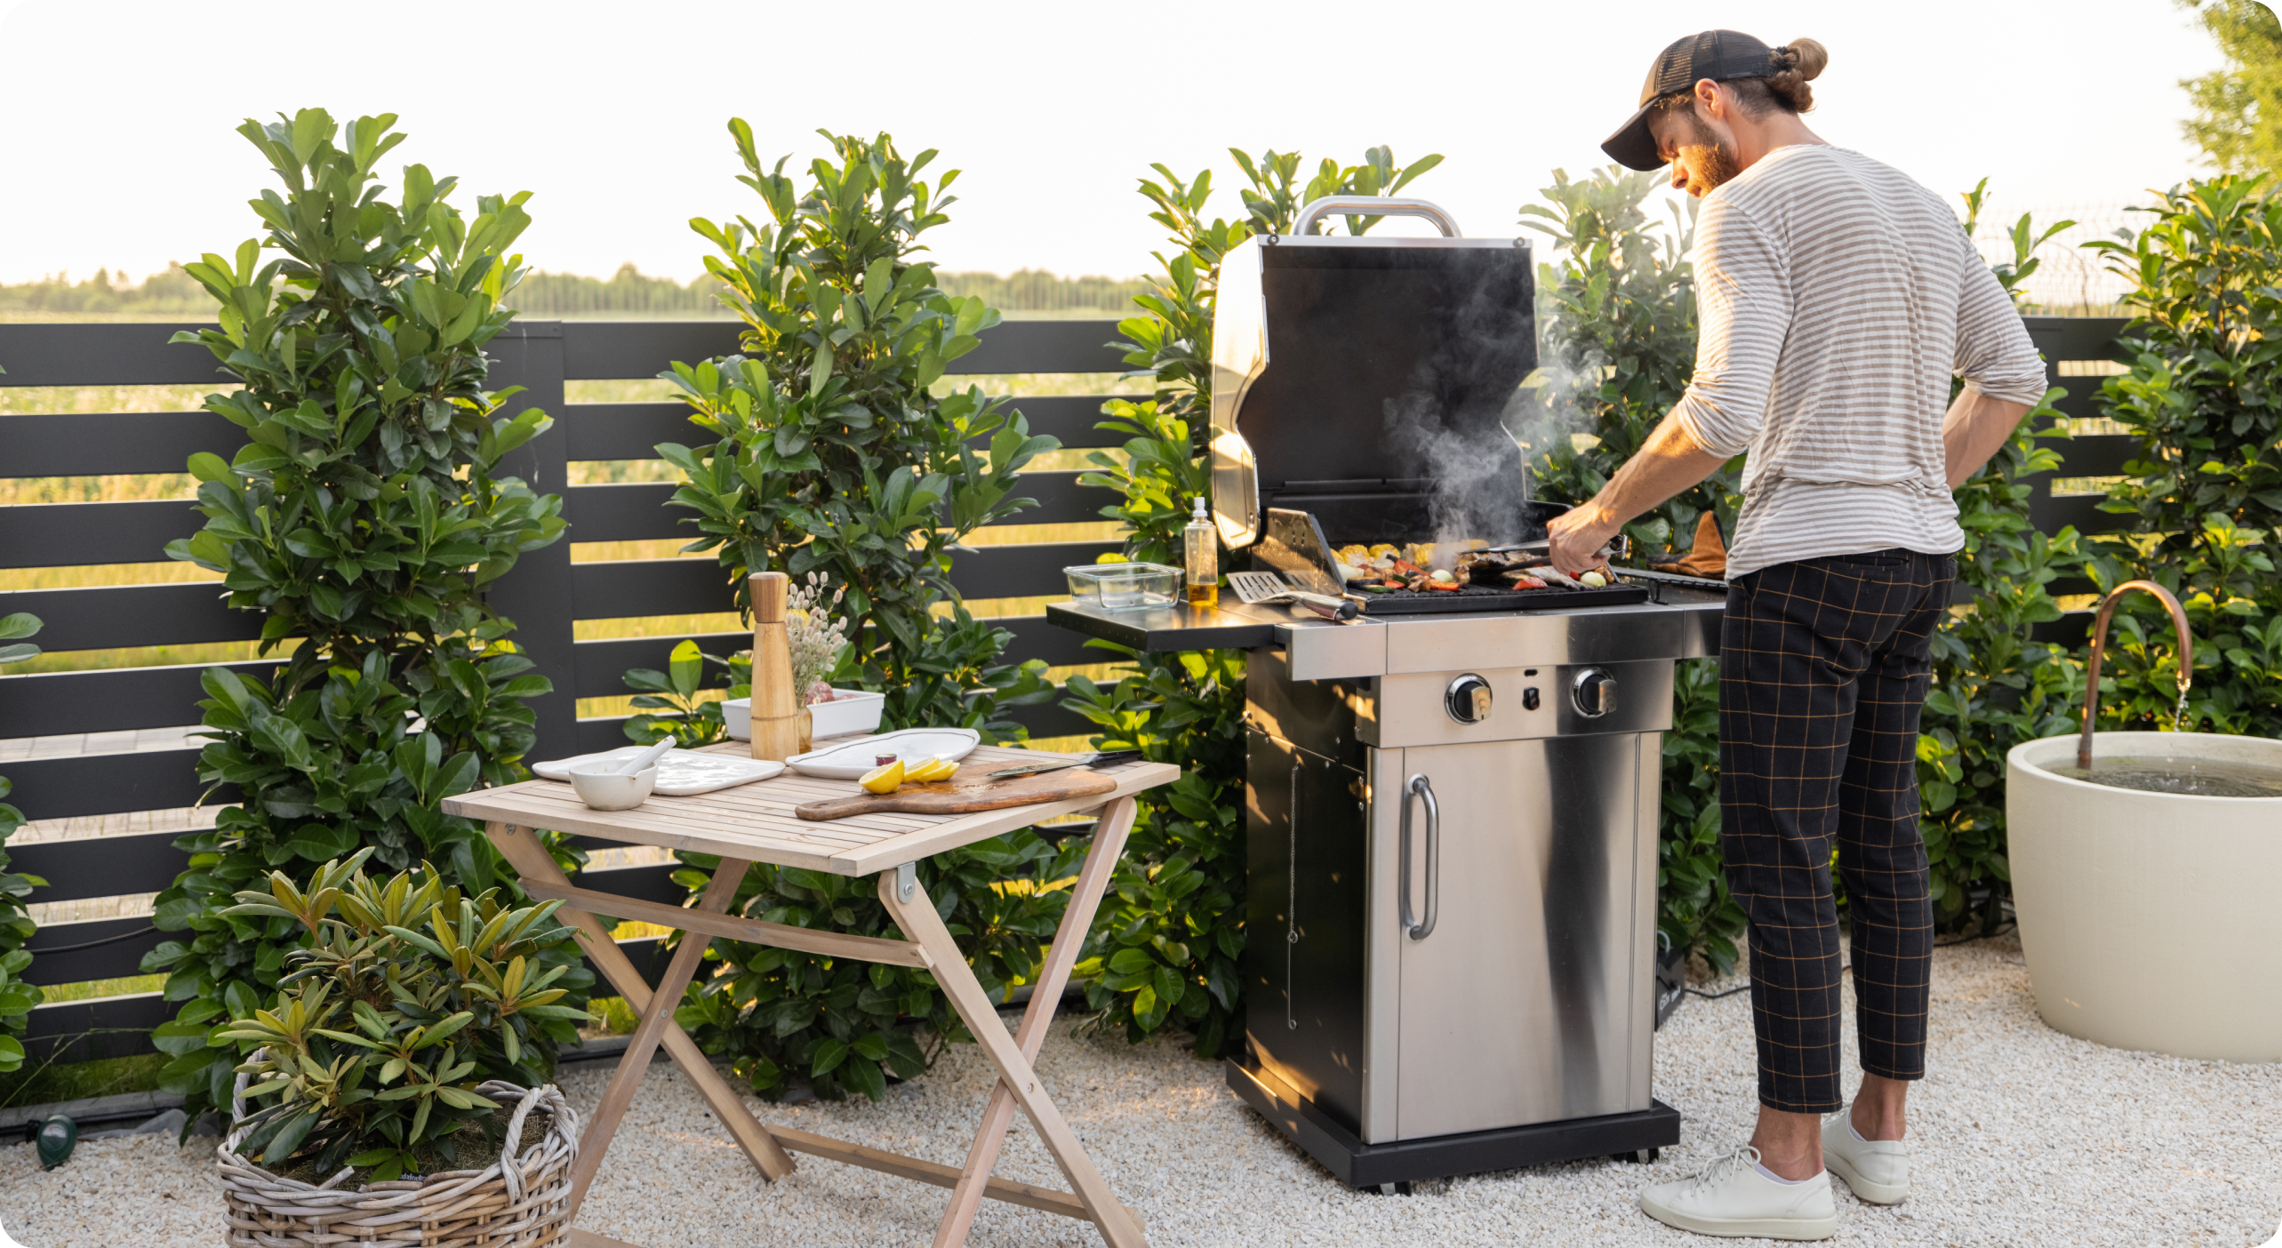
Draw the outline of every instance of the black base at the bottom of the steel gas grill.
[[[1292,1143],[1308,1150],[1353,1189],[1549,1166],[1579,1157],[1616,1157],[1680,1143],[1680,1111],[1650,1100],[1638,1113],[1568,1118],[1534,1127],[1467,1132],[1424,1141],[1362,1143],[1294,1093],[1282,1079],[1241,1059],[1228,1059],[1228,1086]]]

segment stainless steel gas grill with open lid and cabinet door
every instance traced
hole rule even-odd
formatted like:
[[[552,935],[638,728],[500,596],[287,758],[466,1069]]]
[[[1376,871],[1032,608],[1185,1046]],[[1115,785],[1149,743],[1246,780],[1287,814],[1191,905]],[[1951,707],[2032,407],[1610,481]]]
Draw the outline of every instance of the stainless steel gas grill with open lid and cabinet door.
[[[1442,237],[1317,237],[1326,212]],[[1223,262],[1212,513],[1223,541],[1340,593],[1344,543],[1545,536],[1506,424],[1536,367],[1522,240],[1424,201],[1333,198]],[[1438,545],[1440,550],[1440,545]],[[1333,584],[1324,584],[1324,582]],[[1246,1052],[1228,1084],[1351,1186],[1645,1159],[1661,732],[1675,659],[1723,595],[1356,595],[1349,623],[1223,602],[1050,621],[1139,650],[1241,648]]]

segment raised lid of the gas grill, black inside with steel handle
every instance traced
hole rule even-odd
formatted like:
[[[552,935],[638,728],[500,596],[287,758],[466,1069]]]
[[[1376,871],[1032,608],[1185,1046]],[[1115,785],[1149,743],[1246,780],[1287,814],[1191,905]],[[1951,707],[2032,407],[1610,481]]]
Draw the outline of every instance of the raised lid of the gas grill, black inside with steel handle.
[[[1442,237],[1310,233],[1330,212],[1426,217]],[[1255,543],[1269,507],[1314,513],[1330,541],[1429,541],[1454,461],[1513,484],[1470,493],[1470,511],[1490,509],[1479,536],[1531,527],[1522,454],[1499,427],[1538,363],[1527,240],[1458,237],[1415,198],[1319,198],[1292,235],[1228,253],[1212,345],[1212,516],[1228,545]]]

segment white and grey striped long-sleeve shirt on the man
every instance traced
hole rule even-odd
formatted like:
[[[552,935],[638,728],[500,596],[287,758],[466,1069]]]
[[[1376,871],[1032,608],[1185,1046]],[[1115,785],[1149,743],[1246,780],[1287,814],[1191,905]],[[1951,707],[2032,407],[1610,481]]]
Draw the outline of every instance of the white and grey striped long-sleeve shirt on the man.
[[[1693,262],[1696,379],[1673,418],[1748,452],[1727,575],[1960,550],[1949,379],[2033,404],[2045,365],[1949,205],[1862,153],[1775,148],[1705,196]]]

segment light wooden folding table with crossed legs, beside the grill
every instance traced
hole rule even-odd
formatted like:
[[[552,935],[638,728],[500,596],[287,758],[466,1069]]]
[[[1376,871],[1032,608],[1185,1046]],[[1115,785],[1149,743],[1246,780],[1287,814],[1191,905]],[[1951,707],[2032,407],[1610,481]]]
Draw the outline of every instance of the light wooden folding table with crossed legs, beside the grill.
[[[744,746],[714,746],[714,751],[742,755]],[[1036,757],[1036,751],[984,746],[968,755],[965,767],[990,769],[1006,767],[1011,762],[1031,762]],[[1038,1072],[1031,1068],[1031,1061],[1038,1056],[1038,1045],[1045,1043],[1045,1029],[1054,1020],[1054,1008],[1061,1004],[1061,990],[1070,979],[1070,967],[1077,963],[1077,949],[1086,938],[1086,929],[1093,924],[1093,913],[1100,906],[1102,892],[1109,888],[1118,853],[1125,849],[1125,835],[1132,830],[1134,821],[1134,794],[1171,783],[1180,776],[1178,767],[1164,762],[1127,762],[1120,767],[1104,767],[1100,771],[1118,783],[1114,792],[1038,805],[1015,805],[1006,810],[984,810],[977,815],[863,815],[828,824],[803,821],[792,815],[792,808],[806,801],[853,794],[858,792],[856,785],[851,780],[817,780],[792,771],[774,780],[760,780],[710,794],[653,796],[634,810],[589,810],[586,803],[570,792],[570,785],[555,780],[527,780],[520,785],[479,789],[447,799],[443,803],[447,812],[484,821],[491,833],[491,844],[495,844],[516,872],[520,872],[523,888],[532,897],[566,901],[559,915],[566,924],[577,929],[580,947],[584,947],[586,958],[602,970],[609,983],[625,997],[625,1004],[641,1015],[641,1022],[634,1027],[634,1036],[625,1047],[625,1056],[618,1061],[618,1068],[609,1079],[609,1088],[602,1093],[602,1104],[596,1107],[593,1118],[586,1125],[586,1134],[580,1138],[577,1164],[570,1173],[573,1218],[577,1216],[577,1205],[586,1198],[586,1189],[593,1182],[596,1170],[602,1166],[602,1154],[609,1150],[609,1138],[616,1134],[618,1120],[634,1100],[634,1088],[641,1084],[650,1054],[657,1045],[664,1045],[666,1052],[673,1054],[673,1061],[680,1063],[682,1072],[687,1072],[698,1086],[698,1093],[712,1107],[721,1125],[728,1127],[728,1132],[737,1138],[737,1145],[744,1148],[744,1154],[767,1180],[778,1180],[792,1173],[792,1157],[787,1157],[790,1150],[947,1186],[952,1189],[952,1207],[942,1214],[942,1223],[936,1230],[938,1248],[965,1243],[968,1225],[974,1221],[974,1209],[986,1196],[1031,1209],[1045,1209],[1050,1214],[1091,1221],[1102,1232],[1102,1239],[1114,1248],[1143,1246],[1146,1239],[1141,1234],[1141,1218],[1132,1209],[1118,1205],[1118,1200],[1109,1193],[1109,1184],[1102,1182],[1100,1170],[1093,1168],[1093,1159],[1086,1157],[1086,1150],[1077,1143],[1070,1125],[1061,1118],[1061,1111],[1054,1109]],[[1029,1008],[1022,1013],[1022,1024],[1013,1036],[1009,1036],[1006,1027],[997,1018],[997,1008],[974,979],[974,970],[968,967],[965,956],[961,956],[949,929],[942,926],[936,903],[926,897],[926,890],[920,888],[913,865],[931,853],[942,853],[1011,833],[1015,828],[1027,828],[1041,819],[1091,808],[1100,808],[1093,846],[1086,851],[1084,867],[1077,874],[1077,885],[1070,890],[1070,908],[1061,919],[1061,929],[1054,933],[1054,942],[1045,958],[1045,972],[1031,990]],[[707,881],[705,894],[696,908],[634,901],[609,892],[575,888],[555,865],[555,858],[545,853],[545,846],[539,844],[534,835],[536,828],[575,833],[607,842],[657,844],[691,853],[712,853],[721,858],[721,865]],[[753,862],[806,867],[810,872],[831,872],[840,876],[876,874],[879,899],[888,906],[888,913],[904,931],[904,940],[769,924],[730,915],[728,906],[737,897],[737,883]],[[737,1091],[730,1088],[728,1079],[723,1079],[721,1072],[705,1059],[696,1040],[691,1040],[689,1034],[673,1022],[673,1008],[680,1004],[682,990],[689,986],[691,976],[696,976],[707,942],[682,940],[673,951],[673,961],[669,963],[664,979],[653,992],[634,970],[632,961],[628,961],[628,956],[618,951],[616,942],[612,942],[609,929],[596,915],[616,915],[621,919],[673,926],[696,935],[719,935],[748,945],[824,954],[831,958],[924,967],[936,976],[936,983],[942,986],[942,992],[952,999],[952,1008],[958,1011],[958,1018],[981,1043],[984,1054],[1000,1075],[997,1086],[990,1091],[990,1104],[984,1111],[981,1129],[968,1148],[965,1166],[952,1168],[787,1127],[764,1127],[753,1118]],[[1020,1107],[1038,1129],[1038,1136],[1045,1141],[1045,1150],[1054,1157],[1054,1164],[1061,1166],[1061,1175],[1068,1180],[1070,1191],[1052,1191],[990,1177],[990,1168],[997,1164],[1006,1129],[1013,1125],[1015,1107]],[[573,1246],[582,1239],[589,1243],[607,1243],[600,1237],[573,1232]]]

